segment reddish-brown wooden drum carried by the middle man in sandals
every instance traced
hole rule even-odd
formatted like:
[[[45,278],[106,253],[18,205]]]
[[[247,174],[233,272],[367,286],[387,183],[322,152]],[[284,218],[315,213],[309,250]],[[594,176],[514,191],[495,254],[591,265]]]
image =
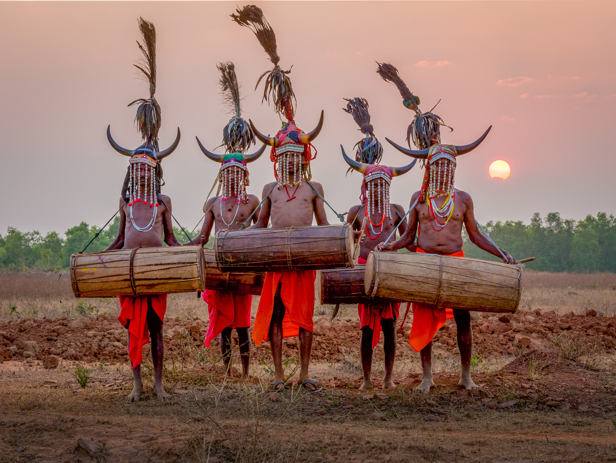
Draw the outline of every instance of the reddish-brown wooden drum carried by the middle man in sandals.
[[[218,232],[221,272],[286,272],[354,266],[351,226],[255,228]]]

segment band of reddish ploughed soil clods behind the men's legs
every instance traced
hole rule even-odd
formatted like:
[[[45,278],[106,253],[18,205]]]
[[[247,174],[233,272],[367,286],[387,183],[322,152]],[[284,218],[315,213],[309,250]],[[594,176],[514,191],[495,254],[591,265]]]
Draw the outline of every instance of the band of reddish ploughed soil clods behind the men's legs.
[[[525,350],[546,347],[549,340],[569,332],[583,336],[588,342],[597,342],[602,348],[612,350],[616,346],[616,317],[596,316],[594,311],[587,315],[556,315],[554,312],[518,312],[515,315],[474,313],[472,328],[474,352],[482,358],[501,354],[516,354]],[[165,320],[165,348],[173,352],[178,343],[192,339],[194,346],[201,345],[207,330],[207,322],[199,319]],[[407,320],[404,333],[399,334],[397,355],[408,356],[411,352],[406,342],[410,323]],[[359,347],[359,321],[334,320],[318,317],[315,320],[313,358],[315,360],[342,361],[350,352]],[[235,336],[235,332],[233,332]],[[382,342],[382,341],[381,341]],[[298,339],[285,340],[285,355],[298,352]],[[382,348],[375,349],[375,355],[382,355]],[[457,353],[456,324],[453,320],[437,332],[434,339],[434,353],[447,355]],[[0,323],[0,360],[23,361],[25,356],[43,360],[55,355],[70,360],[109,361],[126,358],[126,330],[115,319],[99,315],[95,319],[68,318],[26,319]],[[254,350],[254,358],[269,358],[269,343]]]

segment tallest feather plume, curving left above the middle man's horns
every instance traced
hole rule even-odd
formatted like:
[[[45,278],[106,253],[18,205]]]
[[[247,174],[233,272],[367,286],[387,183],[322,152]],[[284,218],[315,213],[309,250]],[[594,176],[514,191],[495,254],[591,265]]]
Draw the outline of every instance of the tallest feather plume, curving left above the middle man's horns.
[[[270,96],[274,100],[274,108],[277,113],[284,113],[285,117],[293,120],[293,105],[291,100],[295,98],[293,93],[293,87],[291,86],[291,79],[288,78],[288,74],[291,72],[291,68],[288,71],[282,70],[278,65],[280,57],[278,56],[276,46],[276,35],[272,26],[269,25],[267,19],[263,14],[261,8],[254,5],[246,5],[241,10],[235,10],[237,14],[232,14],[231,17],[240,26],[245,26],[253,31],[256,38],[261,43],[261,46],[265,52],[269,55],[270,61],[274,64],[274,69],[271,71],[265,71],[259,76],[257,84],[254,87],[256,90],[261,83],[261,79],[265,76],[265,88],[263,90],[263,98],[261,102],[270,102]]]

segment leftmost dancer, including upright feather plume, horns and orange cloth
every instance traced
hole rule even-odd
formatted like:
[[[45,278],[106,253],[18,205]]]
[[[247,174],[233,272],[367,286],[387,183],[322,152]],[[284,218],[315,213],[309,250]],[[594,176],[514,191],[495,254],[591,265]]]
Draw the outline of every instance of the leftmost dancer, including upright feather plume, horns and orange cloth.
[[[160,129],[160,106],[154,98],[156,91],[156,30],[151,22],[139,18],[139,30],[143,43],[137,42],[144,58],[135,65],[150,84],[150,98],[139,99],[135,121],[144,143],[136,150],[122,148],[111,138],[107,127],[107,139],[119,153],[130,156],[128,172],[124,179],[120,198],[120,231],[107,249],[156,248],[163,245],[181,246],[173,235],[171,223],[171,198],[161,195],[163,180],[161,160],[169,156],[180,142],[180,129],[176,141],[164,151],[158,150]],[[164,185],[164,182],[163,182]],[[149,203],[149,204],[148,204]],[[127,217],[130,219],[128,220]],[[121,296],[121,312],[118,320],[128,329],[128,355],[132,364],[134,387],[126,401],[136,402],[144,389],[141,380],[142,347],[148,342],[148,330],[152,334],[152,361],[154,364],[154,392],[158,398],[168,398],[163,388],[163,320],[167,308],[166,294],[151,296]]]

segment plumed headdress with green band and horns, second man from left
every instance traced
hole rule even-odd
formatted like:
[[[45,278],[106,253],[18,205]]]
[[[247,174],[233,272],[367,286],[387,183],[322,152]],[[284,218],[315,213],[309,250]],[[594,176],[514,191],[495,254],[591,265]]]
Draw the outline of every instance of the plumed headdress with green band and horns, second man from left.
[[[255,140],[252,129],[245,119],[241,118],[240,84],[238,84],[237,74],[235,74],[235,65],[232,62],[225,62],[218,63],[216,67],[221,72],[218,83],[221,86],[222,102],[232,113],[229,123],[222,129],[222,145],[220,146],[225,147],[225,154],[217,155],[206,150],[199,138],[195,138],[197,138],[197,143],[199,143],[204,155],[212,161],[222,164],[218,174],[219,183],[216,196],[220,195],[222,190],[222,201],[227,201],[231,196],[236,196],[238,203],[240,200],[248,203],[246,187],[250,182],[246,163],[259,159],[259,156],[265,151],[265,145],[251,155],[245,154],[251,143],[255,144]],[[230,174],[232,173],[235,179],[233,191],[230,182]]]

